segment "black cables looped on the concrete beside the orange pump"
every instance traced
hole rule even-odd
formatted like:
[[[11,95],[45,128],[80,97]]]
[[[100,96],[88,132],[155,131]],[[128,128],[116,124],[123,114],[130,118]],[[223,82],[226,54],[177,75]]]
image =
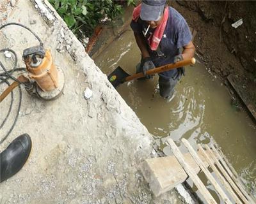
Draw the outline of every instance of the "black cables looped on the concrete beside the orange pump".
[[[26,27],[25,25],[19,24],[19,23],[8,23],[8,24],[4,24],[0,26],[0,30],[3,29],[4,27],[8,26],[8,25],[18,25],[20,27],[23,27],[24,29],[27,29],[28,31],[30,31],[35,37],[36,39],[39,41],[40,46],[44,47],[44,43],[42,43],[42,40],[33,32],[31,31],[31,29],[29,29],[28,27]],[[24,71],[26,68],[17,68],[17,64],[18,64],[18,59],[17,59],[17,54],[15,53],[15,51],[13,51],[10,48],[4,48],[2,50],[0,50],[0,52],[12,52],[12,54],[14,55],[15,58],[15,64],[14,64],[14,68],[7,70],[3,63],[0,61],[0,67],[3,69],[3,73],[0,73],[0,84],[7,84],[8,86],[10,86],[10,82],[8,82],[9,79],[14,80],[15,82],[19,83],[19,104],[18,104],[18,108],[17,108],[17,113],[15,115],[15,119],[13,121],[13,124],[11,126],[11,128],[9,129],[8,133],[6,133],[6,135],[1,138],[0,140],[0,144],[4,142],[4,140],[6,140],[6,138],[10,135],[10,133],[12,133],[13,128],[15,127],[15,124],[17,123],[18,117],[19,117],[19,112],[20,112],[20,107],[21,107],[21,102],[22,102],[22,91],[21,91],[21,87],[20,84],[24,84],[24,82],[20,82],[17,78],[13,77],[13,73],[15,71]],[[13,91],[11,92],[11,102],[10,102],[10,107],[8,110],[8,113],[6,114],[6,117],[4,118],[3,122],[0,125],[0,129],[3,128],[4,124],[6,123],[6,120],[8,119],[8,117],[10,116],[10,113],[12,112],[12,107],[13,107],[13,101],[14,101],[14,96],[13,96]]]

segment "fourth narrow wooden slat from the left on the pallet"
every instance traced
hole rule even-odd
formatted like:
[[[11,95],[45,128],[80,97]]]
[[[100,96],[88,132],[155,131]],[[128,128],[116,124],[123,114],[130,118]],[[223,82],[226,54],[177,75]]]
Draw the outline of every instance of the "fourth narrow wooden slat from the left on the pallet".
[[[207,145],[204,145],[204,147],[205,147],[205,149],[210,150],[210,148]],[[225,179],[227,179],[227,181],[230,184],[230,186],[236,191],[236,193],[244,201],[244,203],[248,203],[249,204],[247,198],[245,198],[243,193],[241,193],[239,188],[236,186],[234,181],[231,179],[230,175],[228,175],[227,171],[223,168],[223,166],[221,166],[220,162],[218,161],[216,156],[214,156],[213,152],[210,151],[210,155],[211,155],[212,159],[214,159],[215,164],[218,166],[218,168],[220,169],[221,173],[224,175]]]

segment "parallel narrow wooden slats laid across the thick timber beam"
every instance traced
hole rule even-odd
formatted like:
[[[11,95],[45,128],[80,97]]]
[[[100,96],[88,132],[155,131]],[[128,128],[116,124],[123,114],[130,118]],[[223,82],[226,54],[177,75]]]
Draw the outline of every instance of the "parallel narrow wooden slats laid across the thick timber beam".
[[[177,145],[175,145],[172,139],[168,139],[168,143],[174,156],[179,161],[180,165],[186,171],[191,180],[193,180],[195,186],[198,188],[205,201],[207,203],[216,203],[216,200],[214,200],[211,193],[209,193],[208,189],[204,186],[198,175],[196,175],[195,171],[193,171],[191,166],[186,162]],[[188,140],[183,138],[182,143],[184,143],[185,147],[189,151],[189,154],[191,154],[200,170],[205,173],[207,179],[211,182],[212,186],[220,195],[220,198],[224,201],[224,203],[255,203],[252,196],[245,191],[245,187],[241,183],[241,180],[239,180],[234,168],[230,168],[230,164],[225,161],[225,157],[223,157],[220,149],[217,149],[214,147],[214,145],[209,147],[208,145],[198,144],[199,152],[204,155],[204,158],[207,161],[207,164],[205,164],[200,156],[198,156],[198,152],[191,147]],[[212,174],[208,170],[207,166],[211,167],[217,178],[212,177]]]

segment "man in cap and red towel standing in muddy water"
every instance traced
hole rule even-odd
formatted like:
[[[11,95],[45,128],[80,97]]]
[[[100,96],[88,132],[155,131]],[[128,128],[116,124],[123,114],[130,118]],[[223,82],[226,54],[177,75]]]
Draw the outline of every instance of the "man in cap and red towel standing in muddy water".
[[[132,15],[131,28],[141,51],[137,73],[143,71],[145,75],[148,69],[194,56],[195,46],[188,24],[177,10],[167,6],[166,0],[143,0]],[[160,95],[171,98],[182,75],[184,68],[159,73]]]

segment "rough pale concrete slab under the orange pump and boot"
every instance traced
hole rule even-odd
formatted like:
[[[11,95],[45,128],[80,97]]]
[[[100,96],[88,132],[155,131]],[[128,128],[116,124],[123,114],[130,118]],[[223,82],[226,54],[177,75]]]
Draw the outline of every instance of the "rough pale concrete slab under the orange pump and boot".
[[[33,98],[22,87],[19,119],[0,152],[22,133],[31,136],[33,146],[24,168],[0,184],[0,203],[180,203],[173,192],[152,196],[138,170],[152,154],[150,134],[58,14],[48,8],[50,17],[45,17],[35,1],[0,0],[0,5],[0,24],[20,22],[35,31],[66,77],[55,101]],[[0,48],[15,50],[21,67],[22,51],[35,45],[35,38],[20,27],[0,31]],[[93,92],[88,100],[86,87]],[[14,120],[17,90],[1,137]],[[0,105],[0,122],[9,106],[10,96]]]

